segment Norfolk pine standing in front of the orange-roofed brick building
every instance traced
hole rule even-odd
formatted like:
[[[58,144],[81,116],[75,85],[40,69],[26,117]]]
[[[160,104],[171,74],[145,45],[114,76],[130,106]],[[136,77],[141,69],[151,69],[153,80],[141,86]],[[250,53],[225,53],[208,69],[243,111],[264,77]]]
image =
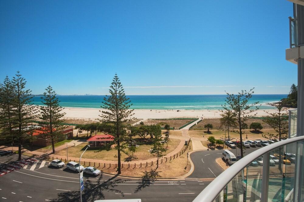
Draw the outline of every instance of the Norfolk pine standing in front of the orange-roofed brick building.
[[[46,106],[40,107],[40,119],[47,121],[48,124],[45,125],[44,131],[45,135],[49,135],[52,141],[52,149],[53,154],[55,153],[54,140],[59,137],[61,134],[62,125],[60,123],[63,122],[60,118],[62,118],[65,113],[60,113],[63,108],[59,106],[59,100],[56,98],[56,92],[49,85],[46,89],[46,92],[43,93],[42,103]]]

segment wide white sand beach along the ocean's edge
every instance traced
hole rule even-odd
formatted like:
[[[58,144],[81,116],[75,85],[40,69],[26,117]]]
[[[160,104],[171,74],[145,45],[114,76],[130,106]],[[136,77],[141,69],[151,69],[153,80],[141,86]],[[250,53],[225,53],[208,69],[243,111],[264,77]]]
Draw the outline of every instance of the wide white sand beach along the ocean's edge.
[[[101,109],[93,109],[93,108],[64,108],[63,112],[66,113],[64,118],[91,118],[97,119],[100,118],[98,115],[101,114],[99,112]],[[268,109],[265,111],[269,111],[271,113],[275,112],[275,109]],[[268,114],[264,110],[257,110],[256,116],[267,116]],[[221,112],[219,110],[149,110],[149,109],[135,109],[133,111],[135,114],[133,117],[148,119],[148,118],[219,118]]]

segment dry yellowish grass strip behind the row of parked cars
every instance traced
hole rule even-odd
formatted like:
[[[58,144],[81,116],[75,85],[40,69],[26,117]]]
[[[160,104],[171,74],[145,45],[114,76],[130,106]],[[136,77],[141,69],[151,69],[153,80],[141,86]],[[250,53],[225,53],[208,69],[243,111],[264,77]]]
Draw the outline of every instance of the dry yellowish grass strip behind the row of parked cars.
[[[224,138],[225,139],[225,131],[218,131],[218,130],[210,130],[210,134],[206,133],[207,131],[203,131],[203,130],[195,130],[195,131],[188,131],[188,134],[190,137],[203,137],[204,138],[208,138],[209,136],[214,136],[216,139],[219,138]],[[243,132],[243,131],[242,131]],[[266,138],[262,137],[262,134],[267,135],[268,133],[271,134],[277,134],[275,132],[274,129],[272,128],[265,128],[262,129],[260,133],[254,133],[253,131],[251,131],[250,129],[245,129],[243,134],[242,134],[242,138],[246,138],[246,135],[248,137],[247,140],[256,140],[256,139],[261,139],[264,140]],[[240,134],[235,133],[235,132],[229,132],[229,135],[231,138],[240,138]],[[226,131],[226,137],[228,137],[228,132]]]

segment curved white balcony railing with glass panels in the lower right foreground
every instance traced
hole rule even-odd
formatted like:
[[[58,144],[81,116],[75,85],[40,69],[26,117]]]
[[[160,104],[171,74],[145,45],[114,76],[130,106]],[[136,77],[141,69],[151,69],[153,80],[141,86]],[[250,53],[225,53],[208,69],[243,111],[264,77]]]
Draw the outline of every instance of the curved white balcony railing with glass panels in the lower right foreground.
[[[294,137],[248,154],[216,177],[194,201],[304,201],[303,143],[304,136]]]

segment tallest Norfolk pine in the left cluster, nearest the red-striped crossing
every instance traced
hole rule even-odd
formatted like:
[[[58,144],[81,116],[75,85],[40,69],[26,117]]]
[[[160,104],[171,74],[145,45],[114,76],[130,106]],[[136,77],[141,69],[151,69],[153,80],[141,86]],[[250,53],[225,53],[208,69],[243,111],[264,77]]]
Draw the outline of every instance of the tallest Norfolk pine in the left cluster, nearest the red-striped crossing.
[[[12,85],[14,87],[14,128],[16,131],[16,141],[18,142],[18,160],[21,160],[21,147],[26,137],[26,132],[28,131],[27,124],[30,122],[30,119],[33,119],[36,115],[36,108],[31,105],[32,94],[31,90],[25,90],[26,81],[20,75],[20,72],[17,71],[17,74],[12,79]]]

